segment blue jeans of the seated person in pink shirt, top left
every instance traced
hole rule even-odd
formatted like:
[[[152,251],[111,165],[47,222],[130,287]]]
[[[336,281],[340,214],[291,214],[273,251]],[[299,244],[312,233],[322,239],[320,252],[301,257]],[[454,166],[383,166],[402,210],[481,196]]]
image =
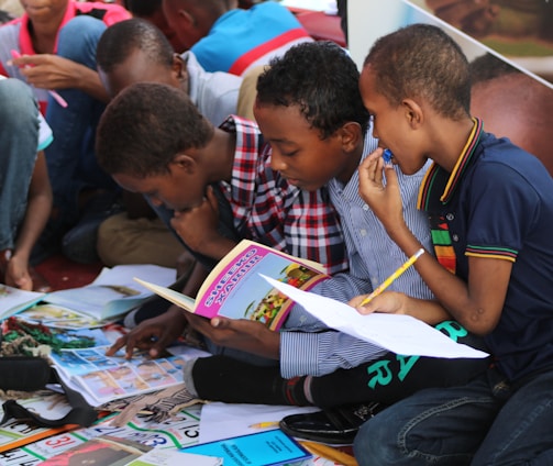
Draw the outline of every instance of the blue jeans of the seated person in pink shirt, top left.
[[[71,19],[59,31],[57,55],[96,71],[96,46],[104,30],[106,24],[96,18]],[[46,164],[58,217],[74,224],[84,187],[113,189],[115,184],[100,169],[95,155],[96,129],[106,103],[80,89],[58,89],[58,93],[68,106],[64,108],[48,97],[45,116],[54,142],[45,151]]]

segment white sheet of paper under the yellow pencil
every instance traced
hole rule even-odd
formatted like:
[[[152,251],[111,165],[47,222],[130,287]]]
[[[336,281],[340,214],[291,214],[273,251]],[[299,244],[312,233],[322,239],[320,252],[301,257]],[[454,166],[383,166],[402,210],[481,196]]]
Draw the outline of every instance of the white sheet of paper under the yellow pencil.
[[[374,343],[396,354],[446,358],[488,356],[479,350],[454,342],[413,317],[377,312],[362,315],[343,302],[300,290],[270,277],[263,277],[329,328]]]

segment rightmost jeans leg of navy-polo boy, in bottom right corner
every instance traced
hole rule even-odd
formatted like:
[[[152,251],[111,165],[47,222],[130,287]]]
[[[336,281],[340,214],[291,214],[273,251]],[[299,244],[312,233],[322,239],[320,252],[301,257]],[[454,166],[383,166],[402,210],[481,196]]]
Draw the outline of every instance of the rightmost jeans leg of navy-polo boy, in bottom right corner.
[[[505,403],[474,457],[484,464],[553,464],[553,370],[519,388]]]

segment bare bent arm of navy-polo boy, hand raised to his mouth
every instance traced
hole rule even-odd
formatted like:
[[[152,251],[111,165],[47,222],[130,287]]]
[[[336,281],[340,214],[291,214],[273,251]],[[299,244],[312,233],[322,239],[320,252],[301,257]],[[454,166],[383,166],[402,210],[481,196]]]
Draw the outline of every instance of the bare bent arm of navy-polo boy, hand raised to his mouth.
[[[384,224],[389,236],[410,257],[420,247],[401,213],[401,197],[396,171],[383,166],[381,149],[367,157],[360,167],[360,192]],[[383,168],[386,186],[383,185]],[[423,254],[414,267],[435,298],[466,330],[487,334],[496,326],[507,295],[512,263],[506,259],[469,257],[468,282],[442,267],[431,254]],[[380,312],[394,312],[378,301]],[[370,303],[367,312],[372,312]]]

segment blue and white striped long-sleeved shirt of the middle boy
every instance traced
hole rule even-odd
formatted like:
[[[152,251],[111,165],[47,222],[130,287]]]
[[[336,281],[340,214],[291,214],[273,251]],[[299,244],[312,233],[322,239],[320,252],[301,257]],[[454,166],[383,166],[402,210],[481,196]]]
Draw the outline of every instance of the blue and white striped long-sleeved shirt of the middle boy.
[[[362,159],[377,145],[378,141],[372,132],[367,132]],[[411,176],[403,175],[397,166],[396,171],[406,223],[427,251],[431,252],[433,249],[427,218],[417,210],[419,186],[429,166],[430,163]],[[407,257],[361,198],[357,171],[346,186],[336,179],[332,179],[327,186],[331,201],[341,217],[350,271],[334,275],[311,291],[346,302],[355,296],[373,291]],[[433,298],[413,267],[395,280],[389,290],[419,299]],[[386,353],[379,346],[328,329],[298,304],[292,308],[280,332],[280,371],[285,378],[299,375],[322,376],[339,368],[356,367]]]

